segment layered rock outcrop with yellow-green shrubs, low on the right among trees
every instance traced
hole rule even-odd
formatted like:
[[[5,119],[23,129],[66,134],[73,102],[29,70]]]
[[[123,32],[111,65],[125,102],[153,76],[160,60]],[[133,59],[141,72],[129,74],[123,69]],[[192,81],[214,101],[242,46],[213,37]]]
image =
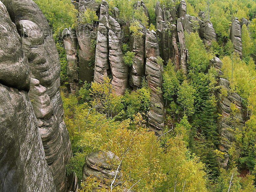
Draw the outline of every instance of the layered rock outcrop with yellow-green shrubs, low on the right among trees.
[[[219,78],[220,89],[216,92],[217,106],[220,118],[217,120],[218,131],[220,134],[220,151],[224,153],[223,158],[220,158],[220,166],[222,168],[227,168],[228,163],[228,150],[231,148],[232,143],[235,139],[234,128],[238,128],[242,131],[244,127],[244,112],[242,108],[241,97],[235,93],[231,92],[229,87],[230,83],[228,80],[221,78],[223,75],[220,68],[222,67],[222,62],[219,58],[214,57],[210,60],[210,65],[216,68]],[[235,108],[235,110],[234,110]],[[237,151],[238,155],[239,152]]]

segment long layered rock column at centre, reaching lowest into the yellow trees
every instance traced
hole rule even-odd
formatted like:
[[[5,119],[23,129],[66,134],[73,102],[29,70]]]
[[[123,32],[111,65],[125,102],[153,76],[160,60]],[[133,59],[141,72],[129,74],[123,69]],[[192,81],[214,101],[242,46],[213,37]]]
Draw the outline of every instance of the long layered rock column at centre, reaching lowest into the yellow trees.
[[[157,64],[159,57],[159,45],[156,33],[148,31],[145,43],[146,75],[150,88],[150,109],[148,114],[149,130],[156,134],[162,134],[164,128],[164,105],[162,88],[163,64]]]

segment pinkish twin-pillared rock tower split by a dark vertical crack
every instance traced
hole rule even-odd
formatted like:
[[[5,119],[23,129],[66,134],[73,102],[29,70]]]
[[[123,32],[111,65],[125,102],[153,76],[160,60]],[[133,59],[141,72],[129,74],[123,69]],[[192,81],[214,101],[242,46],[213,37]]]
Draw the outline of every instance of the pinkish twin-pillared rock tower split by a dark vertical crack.
[[[97,32],[94,81],[103,82],[110,65],[113,76],[111,84],[116,95],[123,95],[128,86],[128,66],[124,64],[124,55],[120,40],[122,31],[119,23],[108,15],[108,3],[100,6],[100,24]],[[109,63],[109,65],[108,65]]]

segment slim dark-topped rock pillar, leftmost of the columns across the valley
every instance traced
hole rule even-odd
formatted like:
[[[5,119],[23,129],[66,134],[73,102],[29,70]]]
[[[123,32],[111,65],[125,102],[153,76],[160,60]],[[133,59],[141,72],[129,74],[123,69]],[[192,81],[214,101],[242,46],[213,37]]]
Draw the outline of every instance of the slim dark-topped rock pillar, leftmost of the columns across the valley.
[[[77,38],[76,31],[65,28],[62,31],[65,50],[67,53],[67,75],[70,84],[71,93],[75,94],[79,87],[78,73],[77,73]]]

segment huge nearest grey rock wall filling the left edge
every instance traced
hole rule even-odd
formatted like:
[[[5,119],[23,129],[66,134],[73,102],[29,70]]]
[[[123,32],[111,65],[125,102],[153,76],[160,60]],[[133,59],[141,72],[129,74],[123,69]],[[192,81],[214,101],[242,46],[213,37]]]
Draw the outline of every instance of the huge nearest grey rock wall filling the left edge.
[[[0,17],[0,65],[4,69],[0,73],[0,190],[54,192],[36,116],[24,91],[30,82],[28,59],[2,2]]]

